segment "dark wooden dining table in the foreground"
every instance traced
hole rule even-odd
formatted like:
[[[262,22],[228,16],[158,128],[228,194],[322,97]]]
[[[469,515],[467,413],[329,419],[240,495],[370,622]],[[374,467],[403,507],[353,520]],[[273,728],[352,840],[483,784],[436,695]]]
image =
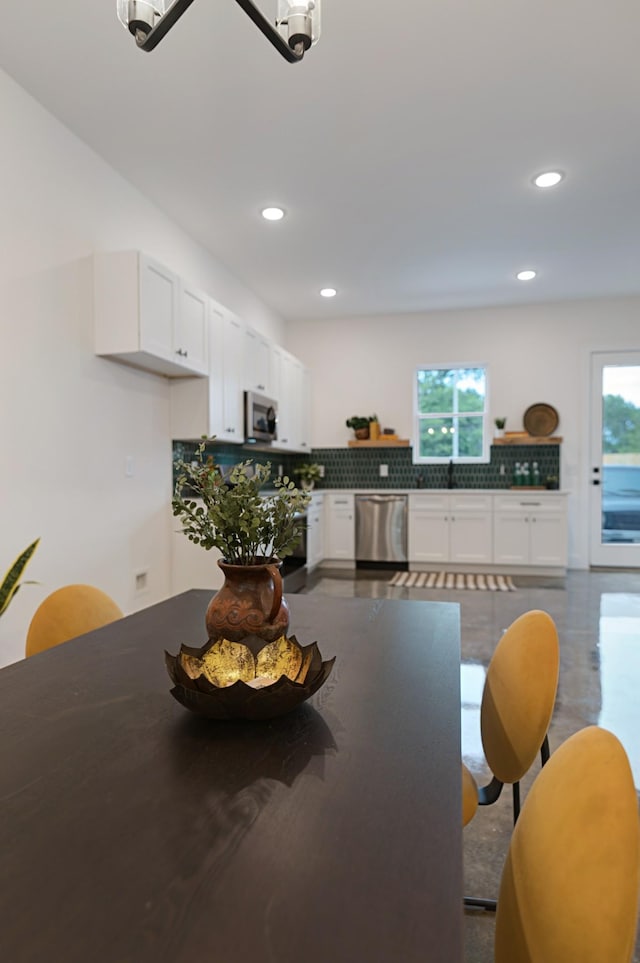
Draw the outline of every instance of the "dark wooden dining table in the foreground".
[[[458,605],[290,596],[331,676],[219,722],[163,658],[210,597],[0,672],[2,963],[460,963]]]

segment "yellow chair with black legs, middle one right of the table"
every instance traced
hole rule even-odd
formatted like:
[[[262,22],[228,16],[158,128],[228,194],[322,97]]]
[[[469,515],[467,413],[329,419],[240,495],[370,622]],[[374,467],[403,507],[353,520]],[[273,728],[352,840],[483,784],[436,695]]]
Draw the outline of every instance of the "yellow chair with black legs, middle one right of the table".
[[[520,780],[540,753],[549,758],[547,730],[558,689],[560,649],[553,619],[525,612],[498,642],[482,692],[480,731],[492,778],[478,786],[462,765],[462,819],[467,825],[478,805],[495,803],[505,783],[512,786],[513,821],[520,812]],[[495,909],[495,900],[465,897],[465,905]]]

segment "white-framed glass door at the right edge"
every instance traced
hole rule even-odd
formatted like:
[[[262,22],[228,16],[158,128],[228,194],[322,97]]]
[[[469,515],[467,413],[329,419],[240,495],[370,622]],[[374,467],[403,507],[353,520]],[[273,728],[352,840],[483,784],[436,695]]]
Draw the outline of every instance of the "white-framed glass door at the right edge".
[[[640,352],[591,367],[590,561],[640,567]]]

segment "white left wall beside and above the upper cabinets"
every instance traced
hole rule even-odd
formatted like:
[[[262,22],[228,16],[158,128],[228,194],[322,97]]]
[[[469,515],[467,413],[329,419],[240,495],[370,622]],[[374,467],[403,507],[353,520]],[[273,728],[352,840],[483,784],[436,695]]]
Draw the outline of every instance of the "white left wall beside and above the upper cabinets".
[[[42,539],[26,575],[40,584],[0,619],[3,665],[65,583],[99,585],[126,612],[170,593],[169,382],[94,356],[91,252],[139,248],[275,340],[284,326],[2,72],[0,115],[2,574]]]

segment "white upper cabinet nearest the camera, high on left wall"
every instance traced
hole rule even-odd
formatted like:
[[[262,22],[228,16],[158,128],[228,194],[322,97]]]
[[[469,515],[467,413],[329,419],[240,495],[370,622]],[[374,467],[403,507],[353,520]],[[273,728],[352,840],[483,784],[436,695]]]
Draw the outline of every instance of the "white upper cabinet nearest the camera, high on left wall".
[[[168,377],[207,374],[204,295],[139,251],[94,255],[96,354]]]

